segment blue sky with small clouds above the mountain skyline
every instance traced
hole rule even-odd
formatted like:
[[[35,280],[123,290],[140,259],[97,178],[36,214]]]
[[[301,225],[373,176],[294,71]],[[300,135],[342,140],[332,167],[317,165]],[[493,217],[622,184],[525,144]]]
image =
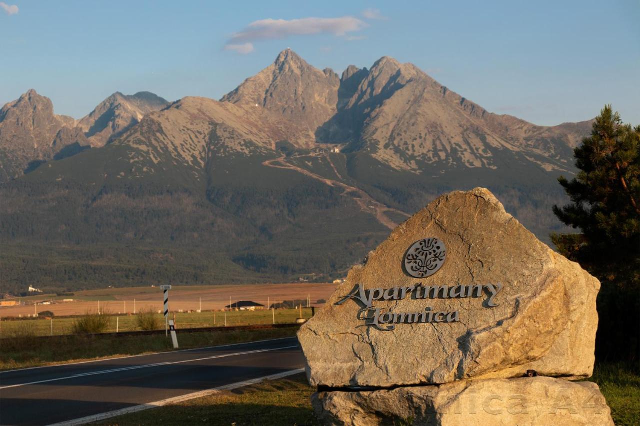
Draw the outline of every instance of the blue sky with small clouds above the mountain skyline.
[[[605,103],[640,124],[638,22],[640,0],[4,0],[0,105],[29,88],[75,118],[114,91],[218,99],[291,47],[339,73],[412,62],[536,124],[586,120]]]

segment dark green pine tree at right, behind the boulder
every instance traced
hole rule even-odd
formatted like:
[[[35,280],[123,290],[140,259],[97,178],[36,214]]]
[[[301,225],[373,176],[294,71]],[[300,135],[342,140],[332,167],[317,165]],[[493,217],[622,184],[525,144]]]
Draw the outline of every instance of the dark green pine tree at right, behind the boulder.
[[[640,126],[610,105],[574,150],[575,178],[558,180],[571,203],[554,213],[581,233],[551,235],[559,251],[600,280],[596,359],[640,358]]]

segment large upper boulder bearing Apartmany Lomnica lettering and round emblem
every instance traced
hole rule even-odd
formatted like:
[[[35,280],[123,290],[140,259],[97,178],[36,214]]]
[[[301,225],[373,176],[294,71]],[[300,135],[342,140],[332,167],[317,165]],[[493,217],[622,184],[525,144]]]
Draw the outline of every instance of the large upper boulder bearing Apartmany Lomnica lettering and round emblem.
[[[588,377],[599,287],[490,191],[456,191],[397,226],[298,338],[316,386]]]

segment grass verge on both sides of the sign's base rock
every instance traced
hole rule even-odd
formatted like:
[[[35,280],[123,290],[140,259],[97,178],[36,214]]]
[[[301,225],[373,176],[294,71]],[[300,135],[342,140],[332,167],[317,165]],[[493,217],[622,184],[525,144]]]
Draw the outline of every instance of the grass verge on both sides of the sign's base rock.
[[[637,368],[599,364],[589,380],[600,386],[616,425],[640,424],[640,371]],[[314,391],[304,374],[296,374],[95,424],[315,425],[310,402]]]

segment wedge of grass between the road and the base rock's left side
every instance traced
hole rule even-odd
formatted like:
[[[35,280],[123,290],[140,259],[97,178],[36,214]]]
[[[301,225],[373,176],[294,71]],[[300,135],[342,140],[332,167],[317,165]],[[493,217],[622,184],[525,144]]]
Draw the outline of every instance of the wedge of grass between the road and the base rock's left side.
[[[111,418],[102,425],[315,425],[304,374]]]

